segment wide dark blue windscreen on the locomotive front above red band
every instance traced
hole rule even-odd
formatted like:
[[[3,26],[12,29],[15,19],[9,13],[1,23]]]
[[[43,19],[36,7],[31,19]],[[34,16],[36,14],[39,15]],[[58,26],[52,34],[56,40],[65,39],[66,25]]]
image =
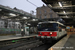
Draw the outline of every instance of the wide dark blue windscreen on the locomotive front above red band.
[[[57,31],[57,23],[42,23],[38,25],[39,31]]]

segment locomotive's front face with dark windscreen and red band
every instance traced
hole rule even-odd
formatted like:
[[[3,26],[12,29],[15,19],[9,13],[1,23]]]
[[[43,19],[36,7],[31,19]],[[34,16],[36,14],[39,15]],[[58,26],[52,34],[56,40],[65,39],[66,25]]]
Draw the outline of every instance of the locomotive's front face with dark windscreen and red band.
[[[38,24],[38,38],[44,41],[50,41],[57,37],[57,23],[39,23]]]

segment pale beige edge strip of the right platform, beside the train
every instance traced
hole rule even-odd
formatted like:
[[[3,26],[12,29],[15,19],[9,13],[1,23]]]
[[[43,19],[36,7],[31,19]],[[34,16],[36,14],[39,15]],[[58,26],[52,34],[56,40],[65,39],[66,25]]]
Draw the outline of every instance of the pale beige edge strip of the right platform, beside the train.
[[[50,47],[48,50],[62,50],[63,48],[65,48],[63,46],[66,44],[69,37],[70,36],[65,36],[60,41],[58,41],[56,44],[54,44],[52,47]]]

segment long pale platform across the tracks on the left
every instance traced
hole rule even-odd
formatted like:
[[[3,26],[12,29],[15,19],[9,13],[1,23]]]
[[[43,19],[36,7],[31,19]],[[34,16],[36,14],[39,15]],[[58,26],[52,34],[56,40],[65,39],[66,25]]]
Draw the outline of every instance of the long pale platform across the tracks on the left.
[[[34,37],[34,36],[37,36],[37,34],[31,34],[28,36],[21,36],[21,35],[0,36],[0,41],[20,39],[20,38],[29,38],[29,37]]]

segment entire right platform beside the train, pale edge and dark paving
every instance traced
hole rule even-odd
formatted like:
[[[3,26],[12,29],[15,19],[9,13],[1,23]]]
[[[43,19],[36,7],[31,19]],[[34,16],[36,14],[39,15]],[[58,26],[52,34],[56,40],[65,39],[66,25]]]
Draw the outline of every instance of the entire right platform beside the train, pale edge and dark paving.
[[[67,35],[48,50],[75,50],[75,34]]]

